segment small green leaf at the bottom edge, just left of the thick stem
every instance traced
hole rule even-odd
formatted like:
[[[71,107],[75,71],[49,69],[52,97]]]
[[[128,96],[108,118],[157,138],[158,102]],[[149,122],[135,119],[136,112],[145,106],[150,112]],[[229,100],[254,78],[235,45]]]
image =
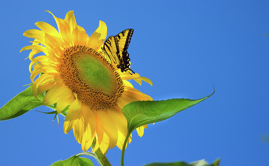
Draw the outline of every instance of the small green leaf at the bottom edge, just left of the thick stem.
[[[78,157],[76,155],[62,161],[63,166],[94,166],[90,159]]]

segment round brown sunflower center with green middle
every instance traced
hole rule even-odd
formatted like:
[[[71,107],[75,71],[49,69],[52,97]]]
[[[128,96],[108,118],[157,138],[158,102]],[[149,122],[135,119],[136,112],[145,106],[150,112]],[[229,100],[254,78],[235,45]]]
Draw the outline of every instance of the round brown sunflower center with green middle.
[[[72,46],[59,59],[64,83],[90,109],[106,109],[117,103],[123,82],[115,68],[94,49]]]

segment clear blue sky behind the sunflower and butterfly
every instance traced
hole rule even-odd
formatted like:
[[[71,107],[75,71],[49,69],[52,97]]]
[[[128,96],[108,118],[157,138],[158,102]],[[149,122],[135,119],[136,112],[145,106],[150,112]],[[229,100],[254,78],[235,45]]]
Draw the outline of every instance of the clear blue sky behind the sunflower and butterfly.
[[[125,165],[221,159],[221,166],[268,165],[269,1],[4,1],[1,12],[0,107],[30,83],[30,51],[23,36],[34,23],[56,26],[50,10],[64,18],[74,10],[88,35],[105,21],[108,36],[132,28],[128,52],[131,69],[153,87],[132,82],[154,100],[199,99],[203,102],[172,118],[149,125],[125,151]],[[51,111],[47,107],[34,110]],[[80,153],[64,119],[31,110],[0,122],[2,165],[50,165]],[[106,154],[120,164],[121,150]],[[97,162],[92,159],[97,164]]]

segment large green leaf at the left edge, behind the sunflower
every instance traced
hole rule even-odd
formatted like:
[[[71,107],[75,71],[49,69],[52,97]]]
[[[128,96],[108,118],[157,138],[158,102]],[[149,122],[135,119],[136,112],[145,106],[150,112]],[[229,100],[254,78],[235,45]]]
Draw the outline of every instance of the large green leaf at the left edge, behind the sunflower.
[[[42,103],[44,93],[37,95],[37,98],[39,100],[33,96],[32,86],[28,87],[0,109],[0,121],[21,116],[35,107],[45,105]]]

